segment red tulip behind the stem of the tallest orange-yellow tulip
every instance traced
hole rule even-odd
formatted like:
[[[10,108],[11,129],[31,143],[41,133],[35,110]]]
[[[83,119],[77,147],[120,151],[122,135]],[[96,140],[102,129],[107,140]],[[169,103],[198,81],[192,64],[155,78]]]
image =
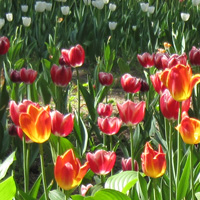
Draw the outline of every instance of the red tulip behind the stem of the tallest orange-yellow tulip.
[[[180,103],[174,100],[166,89],[160,97],[160,109],[165,118],[168,120],[177,120],[179,112]],[[182,111],[188,111],[190,108],[190,98],[183,101]]]

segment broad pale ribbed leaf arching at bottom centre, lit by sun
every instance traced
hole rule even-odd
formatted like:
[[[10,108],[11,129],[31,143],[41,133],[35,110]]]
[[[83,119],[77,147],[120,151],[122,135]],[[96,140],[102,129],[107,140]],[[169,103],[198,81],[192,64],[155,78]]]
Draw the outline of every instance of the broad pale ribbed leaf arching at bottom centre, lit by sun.
[[[115,189],[126,194],[138,181],[138,173],[136,171],[124,171],[113,175],[107,179],[105,188]]]

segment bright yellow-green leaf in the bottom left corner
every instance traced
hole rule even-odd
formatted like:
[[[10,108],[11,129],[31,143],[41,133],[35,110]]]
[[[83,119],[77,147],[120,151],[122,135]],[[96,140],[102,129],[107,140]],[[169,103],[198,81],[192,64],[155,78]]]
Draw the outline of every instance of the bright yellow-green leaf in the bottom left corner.
[[[0,183],[0,196],[3,200],[11,200],[15,197],[16,185],[13,176]]]

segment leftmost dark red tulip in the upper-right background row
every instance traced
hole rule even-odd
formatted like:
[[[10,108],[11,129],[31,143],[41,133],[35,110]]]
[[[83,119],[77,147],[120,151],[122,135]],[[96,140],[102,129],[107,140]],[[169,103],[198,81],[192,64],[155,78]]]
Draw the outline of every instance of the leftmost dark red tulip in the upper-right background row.
[[[140,62],[140,64],[145,68],[154,66],[154,54],[151,55],[147,52],[143,53],[142,55],[138,54],[137,59]]]

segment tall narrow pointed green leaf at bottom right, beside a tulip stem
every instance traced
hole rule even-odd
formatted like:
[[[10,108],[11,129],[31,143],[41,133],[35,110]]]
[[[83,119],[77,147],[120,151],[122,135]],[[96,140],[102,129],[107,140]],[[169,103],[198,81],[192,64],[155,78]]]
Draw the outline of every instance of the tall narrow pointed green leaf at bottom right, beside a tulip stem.
[[[181,200],[184,199],[184,197],[186,196],[186,193],[189,189],[189,185],[190,185],[190,157],[191,154],[189,154],[189,156],[187,157],[184,169],[183,169],[183,173],[181,175],[181,179],[178,183],[178,192],[177,192],[177,200]]]

